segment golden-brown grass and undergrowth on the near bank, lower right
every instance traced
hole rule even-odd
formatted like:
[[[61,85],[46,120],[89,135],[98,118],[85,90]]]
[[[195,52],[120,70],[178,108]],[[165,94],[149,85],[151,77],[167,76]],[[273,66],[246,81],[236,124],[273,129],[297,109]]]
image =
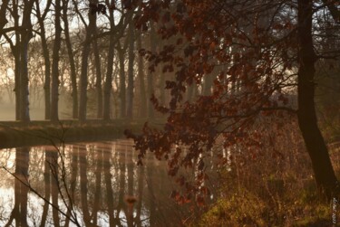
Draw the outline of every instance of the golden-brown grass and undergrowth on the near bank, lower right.
[[[268,133],[275,135],[270,146],[248,152],[230,149],[230,168],[219,170],[218,199],[191,226],[340,226],[339,194],[331,201],[317,194],[297,126]],[[328,146],[340,177],[340,147]]]

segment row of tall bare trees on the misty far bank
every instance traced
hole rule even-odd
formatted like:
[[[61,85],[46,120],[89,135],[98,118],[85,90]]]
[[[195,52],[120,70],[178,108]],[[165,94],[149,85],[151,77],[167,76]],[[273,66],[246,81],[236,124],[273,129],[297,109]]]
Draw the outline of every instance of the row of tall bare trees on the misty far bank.
[[[143,3],[130,2],[3,1],[1,73],[13,86],[9,96],[15,92],[16,120],[30,121],[34,93],[44,93],[44,118],[52,121],[60,118],[60,94],[81,121],[154,115],[151,94],[166,102],[171,73],[148,71],[138,52],[160,50],[160,36],[154,23],[136,29]]]

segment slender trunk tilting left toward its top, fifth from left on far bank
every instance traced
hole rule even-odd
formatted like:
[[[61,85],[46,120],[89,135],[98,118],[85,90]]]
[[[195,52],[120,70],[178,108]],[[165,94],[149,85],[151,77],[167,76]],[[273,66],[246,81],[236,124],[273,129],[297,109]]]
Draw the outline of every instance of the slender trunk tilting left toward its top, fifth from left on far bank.
[[[71,70],[71,85],[72,85],[72,99],[73,99],[73,118],[78,118],[78,88],[77,88],[77,73],[75,70],[75,61],[74,61],[74,54],[73,54],[73,46],[71,43],[70,37],[70,29],[68,24],[68,17],[67,17],[67,5],[69,1],[63,1],[63,33],[65,35],[65,43],[67,48],[67,54],[69,57],[70,62],[70,70]]]

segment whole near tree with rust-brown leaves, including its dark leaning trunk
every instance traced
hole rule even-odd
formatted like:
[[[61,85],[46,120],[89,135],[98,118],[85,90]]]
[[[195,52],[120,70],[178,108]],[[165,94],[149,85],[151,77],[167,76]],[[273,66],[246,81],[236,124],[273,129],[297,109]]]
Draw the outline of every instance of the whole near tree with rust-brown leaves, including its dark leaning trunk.
[[[170,175],[177,175],[180,167],[195,167],[196,182],[203,182],[207,152],[218,140],[225,148],[242,144],[248,150],[260,149],[264,138],[259,126],[264,119],[272,124],[297,114],[319,191],[328,199],[338,193],[314,101],[316,61],[340,53],[334,50],[325,56],[314,44],[318,35],[325,34],[323,24],[314,20],[317,14],[333,14],[332,24],[339,22],[337,5],[324,2],[189,0],[144,5],[138,26],[156,21],[163,39],[177,38],[162,51],[146,54],[153,65],[162,62],[163,71],[175,68],[176,78],[166,81],[171,92],[168,107],[152,98],[154,107],[169,115],[164,128],[146,125],[144,137],[126,132],[134,138],[139,157],[149,148],[158,158],[169,160]],[[209,81],[213,75],[218,77],[211,94],[182,101],[187,84]],[[297,95],[297,109],[289,105],[287,94]],[[173,145],[188,147],[186,154]],[[202,184],[189,184],[180,176],[179,182],[187,185],[188,196],[208,192]]]

